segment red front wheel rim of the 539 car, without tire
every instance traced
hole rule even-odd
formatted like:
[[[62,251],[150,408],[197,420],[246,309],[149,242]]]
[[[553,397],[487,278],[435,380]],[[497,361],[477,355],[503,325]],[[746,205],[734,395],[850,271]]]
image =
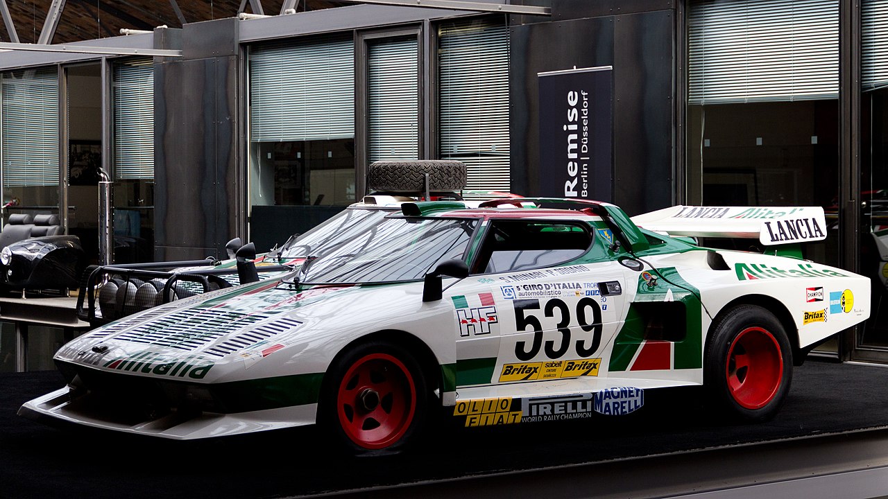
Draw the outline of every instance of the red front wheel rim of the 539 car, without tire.
[[[386,448],[407,432],[416,410],[416,384],[400,360],[373,353],[352,364],[337,391],[343,431],[362,448]]]

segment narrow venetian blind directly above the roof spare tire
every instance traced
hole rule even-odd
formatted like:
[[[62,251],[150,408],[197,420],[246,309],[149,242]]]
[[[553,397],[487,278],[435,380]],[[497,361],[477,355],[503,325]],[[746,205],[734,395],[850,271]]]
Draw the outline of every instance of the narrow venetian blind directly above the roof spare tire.
[[[419,73],[416,37],[368,44],[369,162],[415,160],[419,154]]]

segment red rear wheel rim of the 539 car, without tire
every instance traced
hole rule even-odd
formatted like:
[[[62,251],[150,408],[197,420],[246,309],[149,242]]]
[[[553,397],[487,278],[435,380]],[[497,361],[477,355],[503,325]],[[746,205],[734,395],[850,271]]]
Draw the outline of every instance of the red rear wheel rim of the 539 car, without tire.
[[[765,407],[777,395],[783,380],[783,357],[777,339],[766,329],[743,329],[728,351],[725,376],[738,404],[748,409]]]

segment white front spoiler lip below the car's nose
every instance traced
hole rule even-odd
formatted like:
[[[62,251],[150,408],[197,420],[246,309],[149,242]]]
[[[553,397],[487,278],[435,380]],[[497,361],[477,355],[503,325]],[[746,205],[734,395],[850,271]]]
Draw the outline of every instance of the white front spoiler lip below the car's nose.
[[[154,420],[126,424],[91,411],[86,404],[78,403],[77,400],[70,400],[69,390],[65,387],[29,400],[22,404],[18,414],[45,423],[60,421],[172,440],[197,440],[314,424],[318,407],[317,404],[306,404],[234,414],[202,413],[187,417],[174,411]]]

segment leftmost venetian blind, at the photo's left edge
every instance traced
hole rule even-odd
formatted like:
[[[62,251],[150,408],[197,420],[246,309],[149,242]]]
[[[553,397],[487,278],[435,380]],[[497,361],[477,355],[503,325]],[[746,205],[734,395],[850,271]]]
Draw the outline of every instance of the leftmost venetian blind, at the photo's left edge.
[[[4,186],[58,186],[58,71],[4,73],[0,86]]]

